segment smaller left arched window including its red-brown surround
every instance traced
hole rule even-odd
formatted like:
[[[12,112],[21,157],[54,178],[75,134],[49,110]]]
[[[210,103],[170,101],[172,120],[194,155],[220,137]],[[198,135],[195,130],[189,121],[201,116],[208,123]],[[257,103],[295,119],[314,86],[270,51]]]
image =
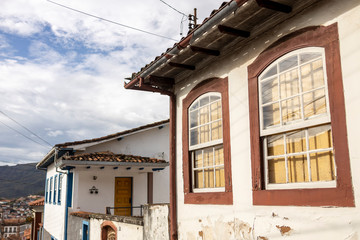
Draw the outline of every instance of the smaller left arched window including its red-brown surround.
[[[228,80],[209,79],[183,100],[185,203],[232,204]]]

